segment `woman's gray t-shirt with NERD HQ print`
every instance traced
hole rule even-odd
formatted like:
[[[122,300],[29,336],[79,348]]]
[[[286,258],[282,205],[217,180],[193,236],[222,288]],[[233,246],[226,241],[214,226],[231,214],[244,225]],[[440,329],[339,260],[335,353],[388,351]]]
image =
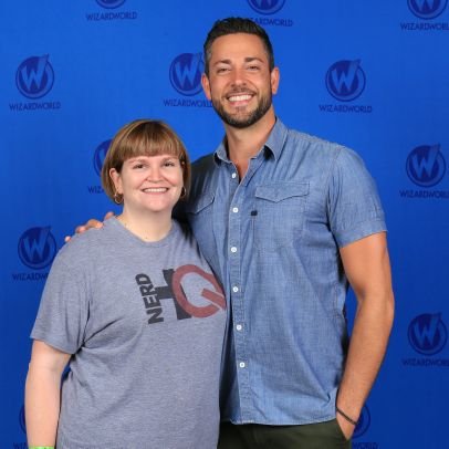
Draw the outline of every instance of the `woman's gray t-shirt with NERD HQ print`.
[[[115,218],[59,252],[32,338],[73,354],[59,449],[217,447],[226,303],[176,221],[144,242]]]

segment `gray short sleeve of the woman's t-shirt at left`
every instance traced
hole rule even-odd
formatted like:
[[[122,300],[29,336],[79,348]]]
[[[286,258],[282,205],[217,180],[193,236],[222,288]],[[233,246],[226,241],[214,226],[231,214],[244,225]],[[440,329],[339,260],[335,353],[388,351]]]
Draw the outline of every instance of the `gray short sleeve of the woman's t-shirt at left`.
[[[86,270],[76,264],[73,250],[56,255],[42,294],[31,337],[67,354],[75,354],[84,342],[88,317]]]

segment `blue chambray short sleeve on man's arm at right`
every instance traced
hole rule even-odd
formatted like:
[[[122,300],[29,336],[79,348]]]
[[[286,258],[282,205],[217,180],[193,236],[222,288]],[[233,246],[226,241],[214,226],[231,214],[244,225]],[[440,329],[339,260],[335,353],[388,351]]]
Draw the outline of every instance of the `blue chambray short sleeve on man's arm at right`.
[[[374,179],[354,152],[341,148],[328,185],[331,230],[340,248],[386,230]]]

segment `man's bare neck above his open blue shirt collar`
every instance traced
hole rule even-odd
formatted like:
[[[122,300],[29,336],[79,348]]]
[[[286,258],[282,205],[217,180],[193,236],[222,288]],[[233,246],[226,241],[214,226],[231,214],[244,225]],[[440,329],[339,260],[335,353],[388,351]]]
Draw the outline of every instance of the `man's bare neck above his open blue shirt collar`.
[[[240,179],[248,170],[251,157],[254,157],[268,139],[275,124],[273,106],[257,123],[247,128],[224,125],[228,155],[239,171]]]

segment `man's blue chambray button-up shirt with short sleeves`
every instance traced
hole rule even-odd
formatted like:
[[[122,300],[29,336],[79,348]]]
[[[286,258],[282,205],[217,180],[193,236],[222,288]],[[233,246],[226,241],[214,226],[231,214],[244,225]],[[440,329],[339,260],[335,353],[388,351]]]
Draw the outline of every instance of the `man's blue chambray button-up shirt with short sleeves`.
[[[224,144],[194,165],[187,217],[229,304],[221,419],[334,419],[347,348],[338,248],[386,229],[362,159],[278,119],[240,181]]]

